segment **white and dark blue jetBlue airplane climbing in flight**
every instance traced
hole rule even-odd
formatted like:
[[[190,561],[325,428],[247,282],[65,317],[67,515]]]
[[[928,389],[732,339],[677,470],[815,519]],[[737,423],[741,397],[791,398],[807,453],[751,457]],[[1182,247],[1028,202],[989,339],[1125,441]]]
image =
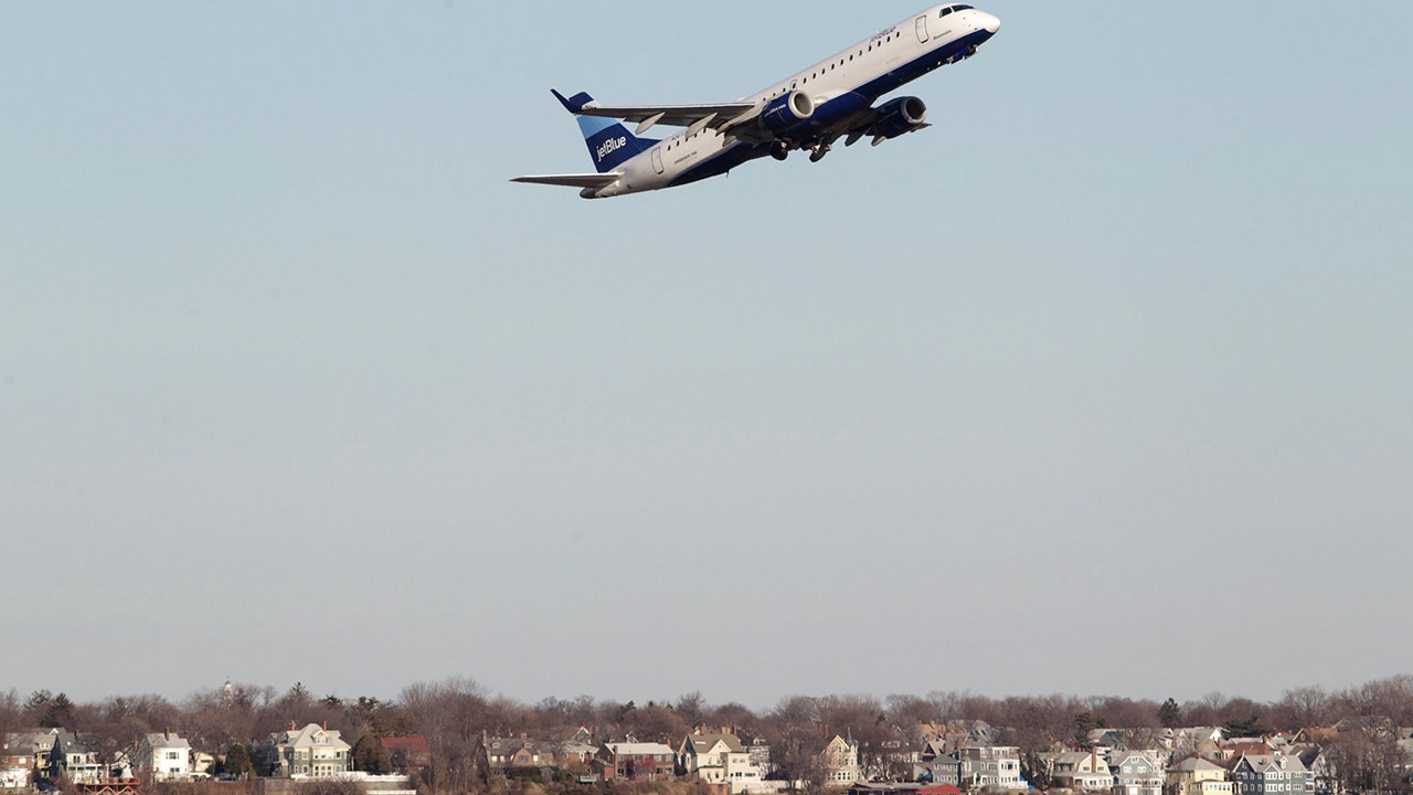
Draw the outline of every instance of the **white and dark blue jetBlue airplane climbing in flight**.
[[[588,93],[565,98],[551,89],[578,119],[598,170],[512,182],[609,198],[697,182],[760,157],[786,160],[794,150],[808,150],[818,163],[841,137],[845,146],[865,137],[877,146],[930,126],[921,99],[875,105],[880,98],[971,58],[999,30],[999,18],[972,6],[934,6],[764,91],[719,105],[606,106]],[[629,132],[620,122],[637,129]],[[643,137],[657,124],[684,129],[666,139]]]

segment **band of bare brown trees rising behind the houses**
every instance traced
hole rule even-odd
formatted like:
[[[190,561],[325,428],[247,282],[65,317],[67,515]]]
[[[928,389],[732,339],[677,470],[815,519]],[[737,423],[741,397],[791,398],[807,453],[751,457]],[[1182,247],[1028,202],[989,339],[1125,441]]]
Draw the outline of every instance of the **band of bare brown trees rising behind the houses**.
[[[482,733],[565,738],[581,726],[598,740],[633,736],[674,748],[694,727],[728,729],[747,740],[763,738],[771,761],[796,778],[810,778],[814,757],[832,734],[852,734],[865,764],[886,765],[897,741],[920,745],[931,727],[983,721],[992,741],[1033,754],[1063,744],[1082,744],[1091,729],[1128,729],[1133,744],[1163,727],[1217,726],[1236,736],[1294,731],[1304,727],[1413,727],[1413,676],[1369,682],[1347,690],[1297,687],[1275,702],[1221,693],[1178,703],[1112,696],[1065,695],[988,697],[965,692],[926,696],[790,696],[767,710],[740,703],[708,703],[701,693],[673,702],[547,697],[524,703],[492,695],[468,678],[415,683],[393,700],[372,696],[318,696],[302,683],[233,685],[199,690],[181,702],[162,696],[113,696],[75,703],[65,693],[0,693],[0,730],[64,727],[92,738],[105,754],[136,747],[146,733],[175,731],[192,747],[223,754],[233,745],[259,747],[292,724],[326,724],[355,744],[363,736],[422,736],[437,767],[437,784],[456,788],[475,777]],[[869,755],[875,758],[870,760]]]

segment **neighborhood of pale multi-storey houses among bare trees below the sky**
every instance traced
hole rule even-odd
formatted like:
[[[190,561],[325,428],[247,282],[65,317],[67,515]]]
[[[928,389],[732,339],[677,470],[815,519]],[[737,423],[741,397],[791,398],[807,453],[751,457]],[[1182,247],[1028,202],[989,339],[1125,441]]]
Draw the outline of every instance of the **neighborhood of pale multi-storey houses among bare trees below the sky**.
[[[1231,714],[1253,704],[1234,703]],[[1067,700],[1047,716],[1031,703],[1013,713],[1024,721],[1006,720],[995,702],[904,697],[791,697],[766,714],[739,704],[714,709],[698,695],[644,707],[589,699],[523,707],[459,682],[410,689],[400,702],[314,699],[300,685],[277,696],[226,683],[182,709],[150,699],[93,710],[62,693],[35,693],[23,706],[11,693],[8,706],[0,713],[8,726],[40,723],[0,734],[0,789],[17,794],[239,784],[242,792],[285,795],[290,785],[335,781],[367,795],[510,784],[704,795],[1354,795],[1409,792],[1413,772],[1413,729],[1388,716],[1280,727],[1263,720],[1276,723],[1283,713],[1256,704],[1251,717],[1183,726],[1184,712],[1222,714],[1171,699],[1161,707]],[[986,710],[989,720],[928,714],[942,709]],[[284,726],[250,734],[280,714],[291,716]],[[1140,723],[1109,724],[1109,716],[1125,714]],[[688,723],[709,717],[722,720]],[[158,719],[178,729],[133,731]]]

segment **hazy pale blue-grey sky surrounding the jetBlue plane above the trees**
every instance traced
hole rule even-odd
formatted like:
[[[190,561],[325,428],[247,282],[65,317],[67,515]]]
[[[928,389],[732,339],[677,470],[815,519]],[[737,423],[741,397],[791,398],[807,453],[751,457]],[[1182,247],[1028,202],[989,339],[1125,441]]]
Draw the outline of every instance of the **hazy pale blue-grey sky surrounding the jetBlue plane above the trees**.
[[[1409,672],[1413,3],[982,7],[926,132],[586,202],[550,88],[917,8],[0,6],[0,690]]]

